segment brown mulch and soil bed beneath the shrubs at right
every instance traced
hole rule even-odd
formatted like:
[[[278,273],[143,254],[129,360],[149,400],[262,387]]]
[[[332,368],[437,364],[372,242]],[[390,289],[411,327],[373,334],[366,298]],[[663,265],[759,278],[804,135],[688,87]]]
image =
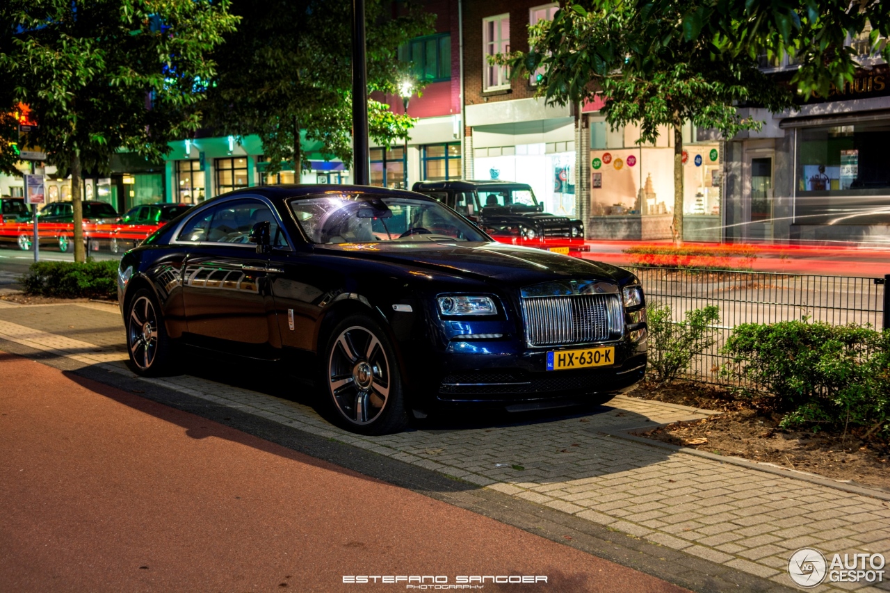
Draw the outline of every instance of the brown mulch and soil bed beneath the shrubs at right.
[[[677,422],[639,436],[719,455],[765,461],[832,480],[890,491],[890,443],[862,428],[843,432],[785,430],[769,398],[735,398],[714,386],[676,382],[644,383],[634,395],[724,413],[692,422]]]

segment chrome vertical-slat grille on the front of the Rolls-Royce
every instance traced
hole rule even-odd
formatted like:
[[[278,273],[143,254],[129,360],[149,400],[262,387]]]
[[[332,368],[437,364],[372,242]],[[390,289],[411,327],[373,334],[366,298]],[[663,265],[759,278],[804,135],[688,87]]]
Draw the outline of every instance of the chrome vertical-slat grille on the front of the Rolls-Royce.
[[[619,296],[532,296],[522,299],[530,345],[603,342],[621,333]]]

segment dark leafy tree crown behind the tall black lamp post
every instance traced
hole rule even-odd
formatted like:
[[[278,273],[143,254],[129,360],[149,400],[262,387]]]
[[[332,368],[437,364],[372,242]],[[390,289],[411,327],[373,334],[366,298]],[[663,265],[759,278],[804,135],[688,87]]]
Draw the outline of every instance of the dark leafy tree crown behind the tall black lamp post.
[[[399,5],[399,4],[397,4]],[[368,91],[395,93],[408,76],[396,49],[433,31],[433,14],[410,3],[392,17],[392,5],[368,0]],[[206,124],[219,134],[259,134],[270,173],[292,158],[296,177],[308,169],[297,139],[352,163],[352,2],[347,0],[236,0],[242,18],[214,54],[220,64]],[[389,145],[405,138],[415,120],[368,102],[370,135]]]

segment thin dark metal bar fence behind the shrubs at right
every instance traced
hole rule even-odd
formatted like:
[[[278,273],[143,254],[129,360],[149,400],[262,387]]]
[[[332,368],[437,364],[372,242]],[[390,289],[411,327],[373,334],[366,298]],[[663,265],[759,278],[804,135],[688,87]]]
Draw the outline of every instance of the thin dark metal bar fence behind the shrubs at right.
[[[729,357],[721,353],[732,329],[742,323],[776,323],[808,319],[834,325],[886,327],[885,278],[815,276],[776,272],[723,270],[676,270],[647,266],[622,266],[643,283],[649,303],[670,305],[674,321],[685,312],[716,305],[720,322],[715,326],[716,344],[692,360],[686,378],[706,383],[732,384],[719,370]],[[890,317],[890,313],[888,313]]]

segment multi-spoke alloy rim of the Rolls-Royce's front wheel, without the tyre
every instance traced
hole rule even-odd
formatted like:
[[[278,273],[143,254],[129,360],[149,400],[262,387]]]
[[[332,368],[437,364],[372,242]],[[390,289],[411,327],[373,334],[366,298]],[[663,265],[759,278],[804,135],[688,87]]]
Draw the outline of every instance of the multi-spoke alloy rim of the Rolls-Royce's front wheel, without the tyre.
[[[390,362],[374,333],[361,326],[344,329],[328,359],[330,393],[337,410],[356,425],[373,423],[390,396]]]

